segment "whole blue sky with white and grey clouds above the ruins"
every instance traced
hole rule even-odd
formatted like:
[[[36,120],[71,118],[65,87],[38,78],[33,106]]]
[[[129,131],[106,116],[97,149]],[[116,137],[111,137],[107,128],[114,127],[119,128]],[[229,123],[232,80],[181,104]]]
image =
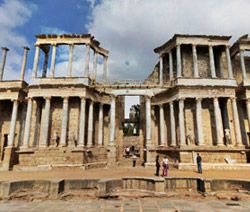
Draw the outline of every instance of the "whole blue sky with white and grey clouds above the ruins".
[[[153,49],[175,33],[232,35],[233,42],[249,32],[249,11],[249,0],[0,0],[0,45],[10,49],[4,78],[19,78],[24,45],[29,78],[35,34],[91,33],[110,50],[110,78],[144,79],[158,60]]]

